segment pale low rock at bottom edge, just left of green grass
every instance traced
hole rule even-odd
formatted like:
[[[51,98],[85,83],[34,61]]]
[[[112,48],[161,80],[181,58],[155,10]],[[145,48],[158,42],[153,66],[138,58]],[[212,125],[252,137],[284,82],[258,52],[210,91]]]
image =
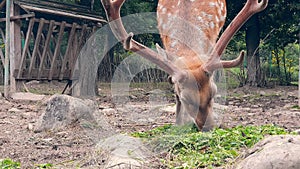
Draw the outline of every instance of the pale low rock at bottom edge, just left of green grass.
[[[112,169],[144,168],[152,155],[140,139],[123,134],[101,140],[96,149],[109,154],[105,168]]]

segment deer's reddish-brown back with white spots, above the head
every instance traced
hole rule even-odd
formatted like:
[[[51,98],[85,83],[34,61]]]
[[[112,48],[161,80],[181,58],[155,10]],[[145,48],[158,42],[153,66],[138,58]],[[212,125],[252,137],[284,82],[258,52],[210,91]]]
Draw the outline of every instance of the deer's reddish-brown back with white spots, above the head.
[[[158,29],[168,53],[189,69],[207,59],[226,18],[225,0],[160,0]],[[200,58],[200,60],[199,60]]]

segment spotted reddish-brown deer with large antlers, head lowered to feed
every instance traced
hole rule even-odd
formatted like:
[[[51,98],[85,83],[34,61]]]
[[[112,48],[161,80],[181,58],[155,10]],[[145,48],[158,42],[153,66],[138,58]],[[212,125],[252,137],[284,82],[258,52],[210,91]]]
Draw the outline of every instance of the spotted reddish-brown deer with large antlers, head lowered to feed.
[[[137,53],[169,74],[175,89],[176,124],[193,122],[199,131],[217,127],[213,74],[243,62],[244,51],[229,61],[221,60],[221,56],[234,34],[252,15],[264,10],[268,0],[247,0],[220,37],[227,13],[225,0],[159,0],[157,22],[164,48],[156,44],[156,50],[134,40],[132,32],[127,33],[120,16],[124,2],[101,0],[109,26],[125,50]]]

